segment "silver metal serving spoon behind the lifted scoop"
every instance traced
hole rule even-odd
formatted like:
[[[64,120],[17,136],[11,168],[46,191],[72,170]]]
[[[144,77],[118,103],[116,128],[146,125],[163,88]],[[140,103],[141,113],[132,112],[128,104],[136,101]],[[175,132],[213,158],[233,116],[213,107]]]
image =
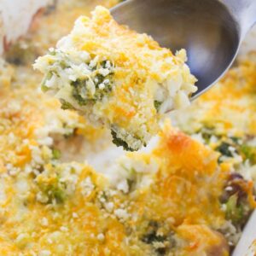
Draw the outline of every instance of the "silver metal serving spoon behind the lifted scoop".
[[[187,50],[191,73],[198,79],[195,99],[235,60],[256,21],[256,0],[127,0],[111,13],[120,24],[146,32],[161,46]]]

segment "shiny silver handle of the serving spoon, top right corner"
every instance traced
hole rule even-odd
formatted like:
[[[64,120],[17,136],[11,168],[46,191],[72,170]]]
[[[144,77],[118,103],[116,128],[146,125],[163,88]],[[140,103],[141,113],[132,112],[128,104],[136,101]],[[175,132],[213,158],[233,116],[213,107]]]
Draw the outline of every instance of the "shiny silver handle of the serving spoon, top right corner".
[[[223,0],[241,28],[244,37],[256,23],[256,0]]]

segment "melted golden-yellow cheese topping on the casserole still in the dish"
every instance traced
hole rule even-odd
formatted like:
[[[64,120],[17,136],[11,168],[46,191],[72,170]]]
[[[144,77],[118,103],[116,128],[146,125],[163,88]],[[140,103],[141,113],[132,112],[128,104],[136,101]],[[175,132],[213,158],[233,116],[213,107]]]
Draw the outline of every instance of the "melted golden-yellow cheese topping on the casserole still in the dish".
[[[70,26],[77,15],[88,12],[86,8],[79,9],[81,4],[89,5],[90,9],[96,5],[91,1],[75,3],[74,9],[67,3],[55,15],[42,17],[37,32],[30,35],[38,48],[48,48],[67,33],[64,26],[56,29],[60,22],[53,21],[62,20]],[[26,40],[30,45],[29,39]],[[106,131],[91,127],[77,113],[61,110],[59,102],[38,92],[41,78],[30,67],[4,64],[3,68],[0,72],[1,255],[229,254],[230,233],[222,229],[227,224],[235,228],[226,220],[219,197],[224,193],[230,172],[235,170],[234,165],[226,162],[219,165],[219,153],[166,123],[152,151],[127,154],[116,160],[115,169],[111,167],[112,178],[117,179],[113,182],[84,163],[84,155],[93,147],[84,149],[83,145],[95,146],[101,152],[106,137],[106,144],[110,143]],[[196,117],[200,119],[200,113],[205,113],[207,124],[218,124],[214,108],[221,105],[226,111],[230,108],[226,99],[218,96],[219,90],[230,91],[238,100],[232,102],[237,107],[231,108],[232,113],[239,116],[242,116],[239,100],[250,99],[244,104],[247,102],[252,114],[247,127],[250,124],[253,127],[254,70],[253,62],[246,61],[231,71],[222,82],[226,89],[218,85],[212,89],[216,90],[212,99],[210,94],[203,96]],[[242,83],[241,87],[241,80],[249,85]],[[236,128],[232,116],[218,118]],[[203,124],[206,123],[200,125]],[[237,131],[241,127],[244,124],[238,125]],[[216,140],[218,144],[219,138]],[[56,149],[61,150],[61,159]],[[72,154],[68,156],[69,153]],[[83,156],[80,163],[70,160],[79,154]],[[253,182],[238,183],[253,205]]]

